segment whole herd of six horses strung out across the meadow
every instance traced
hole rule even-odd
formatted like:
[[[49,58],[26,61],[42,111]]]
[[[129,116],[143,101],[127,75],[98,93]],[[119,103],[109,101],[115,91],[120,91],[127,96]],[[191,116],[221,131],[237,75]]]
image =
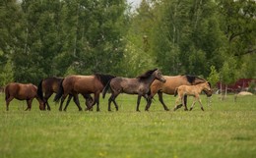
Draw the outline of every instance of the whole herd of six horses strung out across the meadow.
[[[118,111],[115,99],[120,93],[138,95],[137,111],[140,111],[139,106],[142,97],[147,100],[145,110],[148,111],[151,107],[152,99],[157,93],[160,103],[166,111],[169,109],[163,102],[162,93],[178,94],[174,110],[182,106],[184,106],[184,110],[188,110],[186,106],[187,95],[193,95],[195,98],[190,110],[193,109],[196,101],[200,103],[201,109],[204,110],[199,94],[201,91],[204,91],[207,96],[212,95],[211,84],[206,79],[186,75],[162,76],[159,69],[150,70],[133,79],[102,74],[92,76],[71,75],[66,78],[41,79],[37,86],[32,83],[12,82],[7,84],[5,87],[6,110],[9,110],[9,104],[14,98],[26,100],[28,104],[26,110],[31,110],[34,98],[38,101],[40,110],[50,110],[48,99],[53,93],[56,93],[54,101],[59,102],[60,100],[59,111],[62,111],[62,106],[67,96],[68,100],[64,111],[67,110],[72,98],[79,111],[82,111],[78,97],[79,94],[82,94],[86,99],[86,110],[92,110],[94,105],[96,105],[96,111],[99,111],[99,94],[102,93],[104,98],[109,90],[111,95],[108,99],[108,111],[111,111],[112,102],[116,111]],[[94,94],[94,98],[91,94]]]

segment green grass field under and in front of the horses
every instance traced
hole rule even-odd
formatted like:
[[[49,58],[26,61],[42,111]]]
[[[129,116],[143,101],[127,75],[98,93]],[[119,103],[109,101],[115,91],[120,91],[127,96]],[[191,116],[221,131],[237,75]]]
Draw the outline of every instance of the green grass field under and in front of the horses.
[[[163,97],[172,109],[175,98]],[[0,94],[0,157],[256,157],[256,96],[234,102],[233,95],[214,95],[211,106],[201,98],[204,112],[198,103],[191,112],[165,112],[158,97],[150,112],[145,101],[135,112],[137,97],[125,94],[117,98],[118,112],[107,112],[107,99],[100,99],[100,112],[79,112],[73,102],[59,112],[52,98],[51,111],[39,111],[33,100],[26,112],[26,102],[14,100],[6,112]]]

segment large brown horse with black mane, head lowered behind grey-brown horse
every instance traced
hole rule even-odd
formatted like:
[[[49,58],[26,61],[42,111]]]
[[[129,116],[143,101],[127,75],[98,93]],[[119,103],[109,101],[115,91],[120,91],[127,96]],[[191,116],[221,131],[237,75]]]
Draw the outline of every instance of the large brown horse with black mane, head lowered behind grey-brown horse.
[[[81,111],[78,94],[81,93],[85,98],[91,93],[95,94],[94,101],[88,106],[87,110],[91,110],[96,104],[96,111],[99,111],[99,93],[103,90],[104,86],[109,80],[115,78],[111,75],[95,74],[93,76],[78,76],[71,75],[61,80],[59,90],[54,97],[54,101],[58,102],[61,98],[59,111],[62,111],[62,104],[68,94],[74,96],[74,102]],[[65,106],[66,110],[68,105]]]

